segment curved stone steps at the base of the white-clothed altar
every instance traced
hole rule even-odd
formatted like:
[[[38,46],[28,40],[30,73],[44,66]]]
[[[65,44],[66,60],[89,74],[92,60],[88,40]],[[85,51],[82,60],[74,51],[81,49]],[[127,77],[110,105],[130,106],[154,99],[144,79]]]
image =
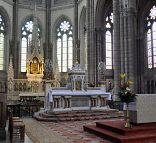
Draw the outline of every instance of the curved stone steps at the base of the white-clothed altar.
[[[81,121],[123,117],[123,112],[116,109],[79,110],[79,111],[46,111],[34,115],[39,121]]]

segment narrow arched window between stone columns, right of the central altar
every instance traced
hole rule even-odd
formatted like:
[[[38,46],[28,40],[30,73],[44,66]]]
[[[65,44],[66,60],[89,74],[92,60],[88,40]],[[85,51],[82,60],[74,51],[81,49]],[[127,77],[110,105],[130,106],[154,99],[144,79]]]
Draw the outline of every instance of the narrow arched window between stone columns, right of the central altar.
[[[106,69],[113,68],[113,13],[105,19],[105,47],[106,47]]]

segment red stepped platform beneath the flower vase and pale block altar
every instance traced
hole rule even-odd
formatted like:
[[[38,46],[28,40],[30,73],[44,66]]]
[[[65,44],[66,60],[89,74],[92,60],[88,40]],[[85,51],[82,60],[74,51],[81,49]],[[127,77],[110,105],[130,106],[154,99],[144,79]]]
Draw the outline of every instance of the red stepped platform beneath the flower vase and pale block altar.
[[[113,143],[156,143],[156,123],[124,127],[123,120],[96,122],[84,126],[84,131],[93,133]]]

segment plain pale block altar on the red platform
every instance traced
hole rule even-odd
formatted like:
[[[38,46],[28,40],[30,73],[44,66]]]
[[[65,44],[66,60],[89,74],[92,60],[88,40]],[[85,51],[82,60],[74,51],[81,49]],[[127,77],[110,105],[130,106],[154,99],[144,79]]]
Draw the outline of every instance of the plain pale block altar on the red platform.
[[[156,94],[137,94],[136,101],[130,103],[132,123],[156,122]]]

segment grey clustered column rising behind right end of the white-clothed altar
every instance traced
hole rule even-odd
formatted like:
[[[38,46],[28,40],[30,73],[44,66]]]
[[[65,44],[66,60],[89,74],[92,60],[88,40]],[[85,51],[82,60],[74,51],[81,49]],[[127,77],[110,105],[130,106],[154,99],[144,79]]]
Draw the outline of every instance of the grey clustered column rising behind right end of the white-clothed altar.
[[[94,27],[94,0],[87,0],[87,49],[88,49],[88,82],[95,83],[96,79],[96,52]]]

